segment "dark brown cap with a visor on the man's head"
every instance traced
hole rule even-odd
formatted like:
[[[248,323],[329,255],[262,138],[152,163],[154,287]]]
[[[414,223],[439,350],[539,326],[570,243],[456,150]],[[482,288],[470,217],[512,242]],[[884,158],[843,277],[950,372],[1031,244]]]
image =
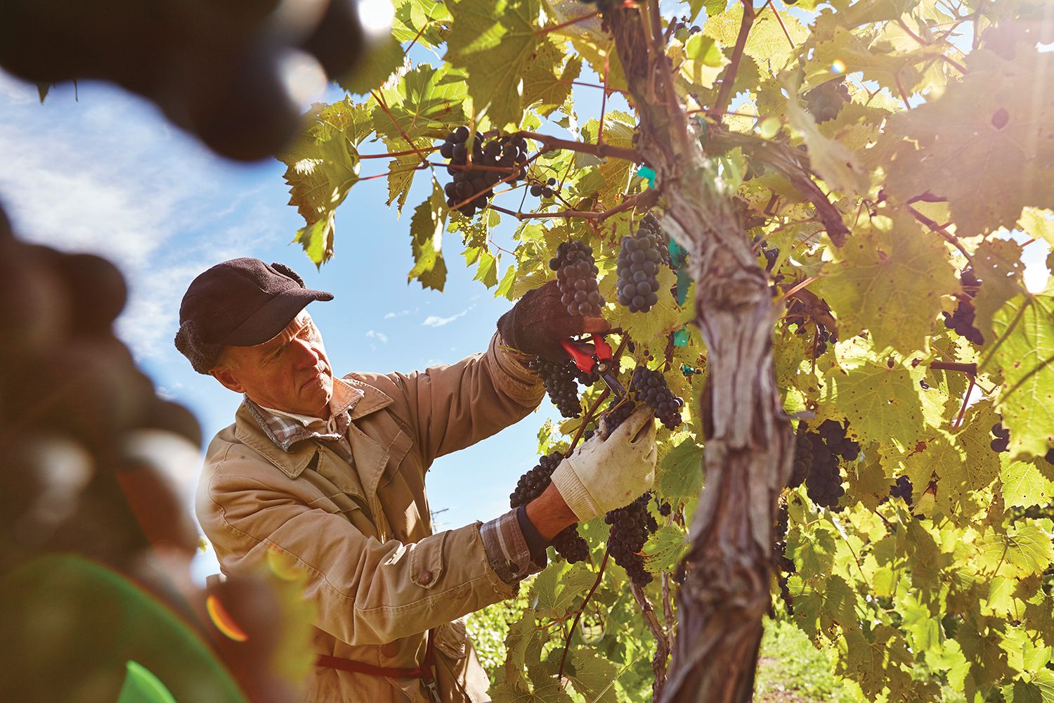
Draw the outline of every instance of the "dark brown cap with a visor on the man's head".
[[[179,306],[176,349],[198,373],[216,366],[223,347],[255,347],[281,332],[312,300],[332,300],[304,287],[288,266],[236,258],[193,281]]]

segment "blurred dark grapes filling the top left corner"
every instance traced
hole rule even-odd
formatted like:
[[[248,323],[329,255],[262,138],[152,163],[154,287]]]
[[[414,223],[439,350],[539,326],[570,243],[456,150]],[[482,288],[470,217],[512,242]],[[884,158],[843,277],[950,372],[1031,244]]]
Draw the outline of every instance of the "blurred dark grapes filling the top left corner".
[[[371,41],[358,0],[6,0],[0,9],[4,70],[44,85],[113,81],[241,160],[293,136],[306,74],[345,78]]]

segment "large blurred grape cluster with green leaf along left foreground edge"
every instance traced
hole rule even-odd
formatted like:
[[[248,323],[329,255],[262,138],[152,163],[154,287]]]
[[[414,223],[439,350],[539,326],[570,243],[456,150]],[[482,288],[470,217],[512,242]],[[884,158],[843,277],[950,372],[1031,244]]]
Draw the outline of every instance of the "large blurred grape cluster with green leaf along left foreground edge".
[[[0,700],[112,703],[142,668],[179,701],[297,700],[295,569],[190,581],[168,476],[197,470],[200,429],[114,336],[124,298],[105,259],[23,243],[0,211]]]

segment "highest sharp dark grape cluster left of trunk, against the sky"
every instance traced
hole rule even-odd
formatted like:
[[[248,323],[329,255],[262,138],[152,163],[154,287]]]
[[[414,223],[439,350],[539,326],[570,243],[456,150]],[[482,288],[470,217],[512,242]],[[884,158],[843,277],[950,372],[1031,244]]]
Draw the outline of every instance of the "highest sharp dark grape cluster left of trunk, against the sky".
[[[472,158],[469,159],[469,129],[462,125],[448,134],[440,147],[440,154],[450,160],[447,173],[453,176],[453,180],[443,189],[447,207],[453,208],[473,198],[457,208],[466,217],[486,208],[493,195],[491,189],[499,181],[507,179],[506,182],[512,183],[524,178],[527,163],[527,140],[520,136],[497,135],[496,132],[476,135],[472,142]],[[474,197],[480,193],[483,195]]]

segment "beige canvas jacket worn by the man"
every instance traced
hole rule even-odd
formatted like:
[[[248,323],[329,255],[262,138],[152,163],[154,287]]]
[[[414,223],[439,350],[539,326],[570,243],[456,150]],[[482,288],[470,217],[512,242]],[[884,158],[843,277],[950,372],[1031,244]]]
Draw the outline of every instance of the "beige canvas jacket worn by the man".
[[[464,616],[516,587],[487,560],[480,523],[433,534],[425,472],[444,454],[522,419],[543,387],[497,335],[484,354],[411,374],[354,373],[365,396],[348,437],[355,468],[320,442],[287,453],[242,405],[206,456],[197,515],[226,573],[251,570],[269,549],[308,574],[317,606],[314,647],[375,666],[415,667],[437,627],[444,702],[486,701],[488,681]],[[316,668],[305,701],[427,702],[416,679]]]

